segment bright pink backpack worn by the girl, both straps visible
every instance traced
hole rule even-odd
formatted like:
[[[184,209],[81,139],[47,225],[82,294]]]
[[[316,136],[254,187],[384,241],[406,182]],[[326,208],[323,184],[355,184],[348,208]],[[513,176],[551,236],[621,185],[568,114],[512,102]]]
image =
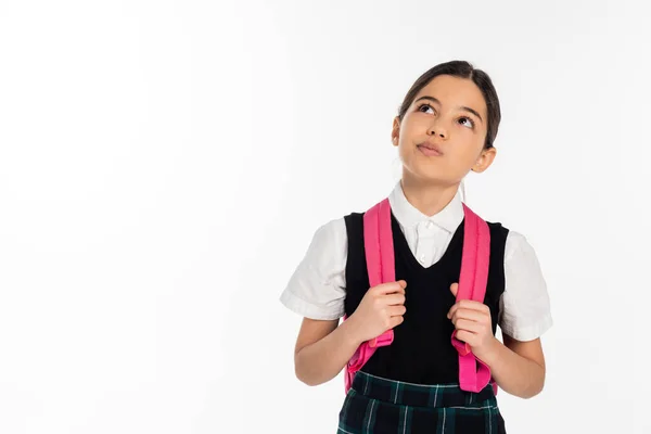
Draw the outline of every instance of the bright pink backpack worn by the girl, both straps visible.
[[[459,277],[459,291],[457,302],[460,299],[484,301],[486,282],[488,280],[488,263],[490,256],[490,232],[488,225],[463,204],[465,217],[463,253],[461,258],[461,276]],[[393,232],[391,228],[391,205],[388,199],[371,207],[363,216],[363,240],[371,288],[381,283],[394,282],[395,261]],[[344,317],[346,320],[346,317]],[[456,337],[452,333],[454,347],[459,353],[459,383],[461,390],[480,392],[489,382],[490,369],[477,359],[470,345]],[[394,339],[393,330],[387,330],[378,337],[365,342],[357,348],[345,368],[346,393],[353,384],[355,373],[371,358],[375,349],[391,345]],[[497,384],[493,390],[497,394]]]

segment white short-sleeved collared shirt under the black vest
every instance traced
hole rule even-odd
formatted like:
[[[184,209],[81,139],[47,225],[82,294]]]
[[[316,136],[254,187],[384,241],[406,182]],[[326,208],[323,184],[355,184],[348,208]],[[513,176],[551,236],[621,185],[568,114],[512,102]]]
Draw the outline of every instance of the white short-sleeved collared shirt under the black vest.
[[[459,192],[434,216],[426,216],[411,205],[400,182],[390,194],[388,202],[414,257],[424,267],[438,261],[463,220]],[[306,318],[343,317],[347,248],[343,217],[321,226],[282,292],[281,303]],[[502,333],[519,341],[539,337],[552,326],[547,284],[534,248],[512,230],[505,246],[505,281],[498,318]]]

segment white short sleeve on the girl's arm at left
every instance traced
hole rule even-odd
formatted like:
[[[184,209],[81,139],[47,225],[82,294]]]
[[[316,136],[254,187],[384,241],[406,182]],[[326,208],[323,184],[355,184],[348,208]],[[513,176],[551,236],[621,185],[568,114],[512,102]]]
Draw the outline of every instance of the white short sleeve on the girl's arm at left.
[[[343,218],[321,226],[280,296],[290,310],[310,319],[332,320],[344,316],[347,256]]]

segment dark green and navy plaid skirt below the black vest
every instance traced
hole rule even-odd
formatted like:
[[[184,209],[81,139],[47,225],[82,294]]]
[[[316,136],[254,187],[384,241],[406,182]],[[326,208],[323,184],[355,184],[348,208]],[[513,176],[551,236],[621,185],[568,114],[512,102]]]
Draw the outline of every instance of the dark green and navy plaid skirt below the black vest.
[[[419,385],[358,371],[339,416],[337,434],[506,434],[493,386]]]

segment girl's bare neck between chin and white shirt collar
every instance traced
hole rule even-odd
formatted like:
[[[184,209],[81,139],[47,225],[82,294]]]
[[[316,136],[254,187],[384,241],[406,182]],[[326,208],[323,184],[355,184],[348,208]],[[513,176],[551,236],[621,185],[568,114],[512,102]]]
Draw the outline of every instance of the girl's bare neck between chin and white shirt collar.
[[[442,184],[437,182],[424,182],[414,179],[407,174],[403,175],[400,186],[407,201],[426,216],[441,213],[457,194],[459,183]]]

